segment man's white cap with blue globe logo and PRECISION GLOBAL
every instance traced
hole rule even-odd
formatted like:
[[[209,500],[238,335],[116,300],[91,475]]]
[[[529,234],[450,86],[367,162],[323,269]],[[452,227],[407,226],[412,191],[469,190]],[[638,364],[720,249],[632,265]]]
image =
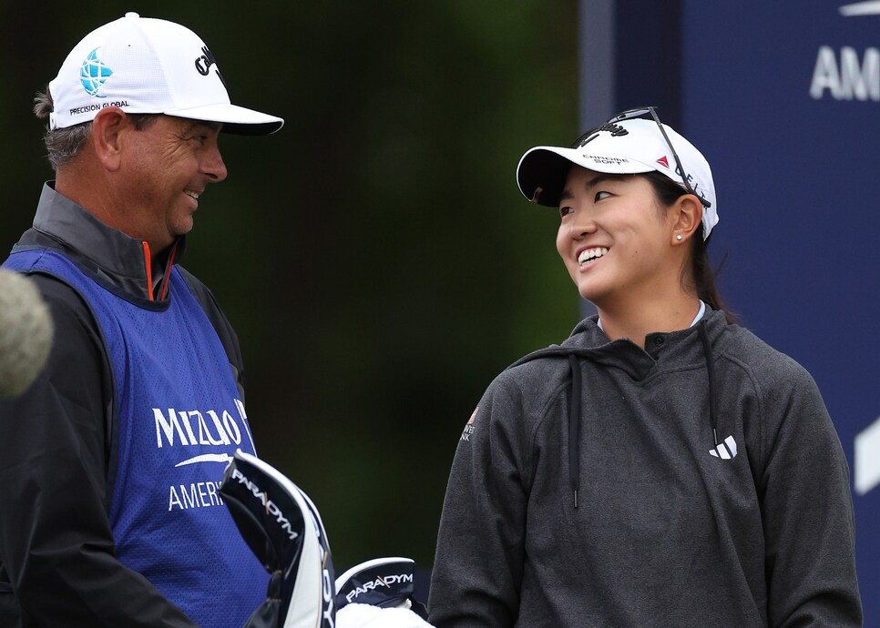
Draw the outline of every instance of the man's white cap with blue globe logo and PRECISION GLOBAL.
[[[235,106],[208,46],[189,28],[127,13],[86,35],[49,83],[49,128],[88,122],[106,106],[222,122],[241,135],[274,133],[280,117]]]

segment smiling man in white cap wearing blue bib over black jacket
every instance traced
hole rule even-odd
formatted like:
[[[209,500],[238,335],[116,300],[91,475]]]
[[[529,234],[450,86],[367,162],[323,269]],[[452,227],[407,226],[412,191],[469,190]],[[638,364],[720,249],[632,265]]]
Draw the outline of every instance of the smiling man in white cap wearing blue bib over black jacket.
[[[184,26],[128,14],[45,93],[56,179],[5,267],[32,277],[56,341],[0,402],[0,625],[236,626],[267,574],[217,487],[254,452],[238,339],[179,266],[221,133],[279,117],[230,104]]]

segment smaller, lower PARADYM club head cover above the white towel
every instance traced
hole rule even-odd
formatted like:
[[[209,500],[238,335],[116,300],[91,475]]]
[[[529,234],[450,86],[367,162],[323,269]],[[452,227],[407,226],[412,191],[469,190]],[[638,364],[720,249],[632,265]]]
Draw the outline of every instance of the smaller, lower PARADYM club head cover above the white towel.
[[[406,608],[427,618],[425,606],[415,601],[415,561],[398,556],[375,558],[353,566],[336,579],[336,610],[348,604]]]

